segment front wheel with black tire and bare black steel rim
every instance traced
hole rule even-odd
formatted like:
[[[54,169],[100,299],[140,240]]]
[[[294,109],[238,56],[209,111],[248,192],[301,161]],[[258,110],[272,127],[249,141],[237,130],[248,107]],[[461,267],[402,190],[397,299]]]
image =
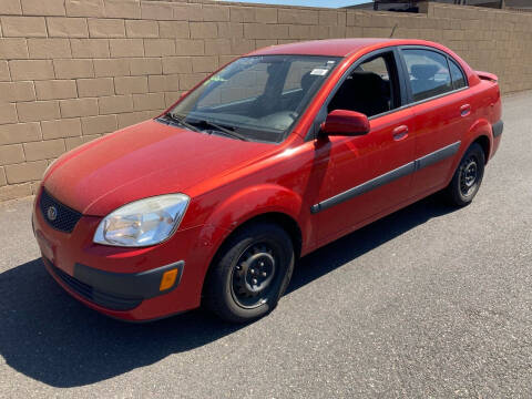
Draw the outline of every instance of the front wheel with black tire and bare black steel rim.
[[[280,226],[260,222],[244,226],[215,257],[204,304],[222,319],[248,323],[270,313],[294,270],[294,245]]]

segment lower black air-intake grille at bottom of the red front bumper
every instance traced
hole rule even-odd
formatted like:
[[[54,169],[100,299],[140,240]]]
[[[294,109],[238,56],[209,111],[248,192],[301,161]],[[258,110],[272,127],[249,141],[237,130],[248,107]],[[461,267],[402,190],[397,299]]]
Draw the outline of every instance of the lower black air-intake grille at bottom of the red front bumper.
[[[55,267],[50,260],[44,259],[51,267],[55,276],[61,279],[70,289],[84,299],[100,305],[110,310],[131,310],[141,305],[141,298],[125,298],[113,294],[102,293],[96,288],[80,282],[78,278],[64,273],[59,267]]]

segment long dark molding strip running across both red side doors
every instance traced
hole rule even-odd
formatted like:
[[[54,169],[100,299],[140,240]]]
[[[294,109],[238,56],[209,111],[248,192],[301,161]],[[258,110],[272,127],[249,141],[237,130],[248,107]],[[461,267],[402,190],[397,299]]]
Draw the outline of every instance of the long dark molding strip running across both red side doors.
[[[380,176],[377,176],[375,178],[371,178],[370,181],[359,184],[358,186],[355,186],[352,188],[349,188],[348,191],[345,191],[344,193],[337,194],[330,198],[327,198],[325,201],[321,201],[318,204],[315,204],[310,207],[310,213],[316,214],[318,212],[325,211],[331,206],[341,204],[345,201],[351,200],[358,195],[365,194],[371,190],[378,188],[385,184],[391,183],[395,180],[405,177],[409,175],[410,173],[413,173],[416,171],[419,171],[423,167],[430,166],[437,162],[443,161],[444,158],[448,158],[449,156],[454,155],[458,150],[460,149],[461,142],[458,141],[456,143],[452,143],[450,145],[444,146],[443,149],[437,150],[430,154],[427,154],[418,160],[415,160],[412,162],[409,162],[402,166],[399,166],[398,168],[395,168],[393,171],[387,172],[385,174],[381,174]]]

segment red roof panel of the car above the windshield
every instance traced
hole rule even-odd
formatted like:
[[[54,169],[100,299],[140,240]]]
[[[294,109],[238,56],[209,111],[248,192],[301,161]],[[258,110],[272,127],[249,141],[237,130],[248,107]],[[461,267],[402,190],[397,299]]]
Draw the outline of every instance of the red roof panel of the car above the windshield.
[[[431,45],[436,43],[426,40],[409,40],[409,39],[377,39],[377,38],[360,38],[360,39],[328,39],[328,40],[313,40],[289,44],[270,45],[264,49],[258,49],[248,55],[274,55],[274,54],[299,54],[299,55],[330,55],[330,57],[346,57],[350,53],[357,52],[365,48],[386,47],[386,45],[401,45],[401,44],[417,44]],[[439,47],[436,44],[436,47]]]

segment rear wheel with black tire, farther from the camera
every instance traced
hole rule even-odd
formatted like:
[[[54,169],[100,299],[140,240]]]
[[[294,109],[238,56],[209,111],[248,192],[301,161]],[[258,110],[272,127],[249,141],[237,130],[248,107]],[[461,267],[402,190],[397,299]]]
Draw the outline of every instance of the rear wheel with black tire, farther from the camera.
[[[484,176],[484,151],[478,143],[473,143],[466,151],[451,183],[444,190],[446,197],[451,205],[466,206],[473,201]]]

